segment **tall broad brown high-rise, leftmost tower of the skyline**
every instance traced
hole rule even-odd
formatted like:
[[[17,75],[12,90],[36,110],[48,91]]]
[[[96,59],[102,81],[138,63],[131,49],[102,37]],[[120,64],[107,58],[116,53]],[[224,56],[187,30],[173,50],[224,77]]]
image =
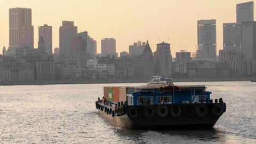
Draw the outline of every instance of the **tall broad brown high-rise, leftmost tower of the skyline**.
[[[9,45],[13,51],[23,46],[34,49],[31,9],[20,7],[9,9]]]

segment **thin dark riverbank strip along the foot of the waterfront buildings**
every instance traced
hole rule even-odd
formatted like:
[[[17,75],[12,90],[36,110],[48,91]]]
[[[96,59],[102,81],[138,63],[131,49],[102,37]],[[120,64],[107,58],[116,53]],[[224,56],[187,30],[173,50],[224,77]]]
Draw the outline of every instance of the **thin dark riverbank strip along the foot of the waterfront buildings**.
[[[174,82],[222,82],[222,81],[251,81],[251,78],[233,78],[233,79],[172,79]],[[55,84],[104,84],[104,83],[147,83],[147,81],[16,81],[0,82],[0,85],[55,85]]]

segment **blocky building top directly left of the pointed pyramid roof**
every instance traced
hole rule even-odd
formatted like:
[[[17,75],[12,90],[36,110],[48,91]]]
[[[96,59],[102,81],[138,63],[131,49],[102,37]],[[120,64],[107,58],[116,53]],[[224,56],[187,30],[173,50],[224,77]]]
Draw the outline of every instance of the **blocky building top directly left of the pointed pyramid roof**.
[[[143,50],[146,46],[146,42],[138,41],[138,43],[133,43],[133,45],[129,45],[129,54],[133,56],[138,56],[143,53]]]

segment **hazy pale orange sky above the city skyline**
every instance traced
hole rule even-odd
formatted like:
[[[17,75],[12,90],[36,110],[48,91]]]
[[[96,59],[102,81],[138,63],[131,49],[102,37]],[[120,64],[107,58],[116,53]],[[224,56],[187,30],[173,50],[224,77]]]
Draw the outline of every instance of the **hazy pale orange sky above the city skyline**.
[[[9,43],[9,8],[32,9],[34,45],[37,48],[38,26],[52,26],[53,50],[59,47],[59,27],[63,20],[74,21],[78,33],[88,31],[97,41],[97,53],[101,52],[102,38],[116,39],[116,52],[129,52],[133,42],[146,42],[152,51],[156,44],[171,44],[171,54],[187,50],[196,51],[197,20],[216,19],[217,55],[223,49],[222,23],[236,22],[236,4],[243,0],[166,0],[166,1],[120,1],[120,0],[1,0],[0,50]],[[255,12],[254,12],[255,13]],[[255,19],[255,18],[254,18]]]

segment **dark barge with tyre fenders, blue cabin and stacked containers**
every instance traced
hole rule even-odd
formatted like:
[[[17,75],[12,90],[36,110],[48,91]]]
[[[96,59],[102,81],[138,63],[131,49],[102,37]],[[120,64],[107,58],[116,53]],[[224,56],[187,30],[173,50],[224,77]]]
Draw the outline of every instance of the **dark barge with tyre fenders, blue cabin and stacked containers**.
[[[98,113],[124,129],[211,129],[226,111],[204,85],[105,86]]]

